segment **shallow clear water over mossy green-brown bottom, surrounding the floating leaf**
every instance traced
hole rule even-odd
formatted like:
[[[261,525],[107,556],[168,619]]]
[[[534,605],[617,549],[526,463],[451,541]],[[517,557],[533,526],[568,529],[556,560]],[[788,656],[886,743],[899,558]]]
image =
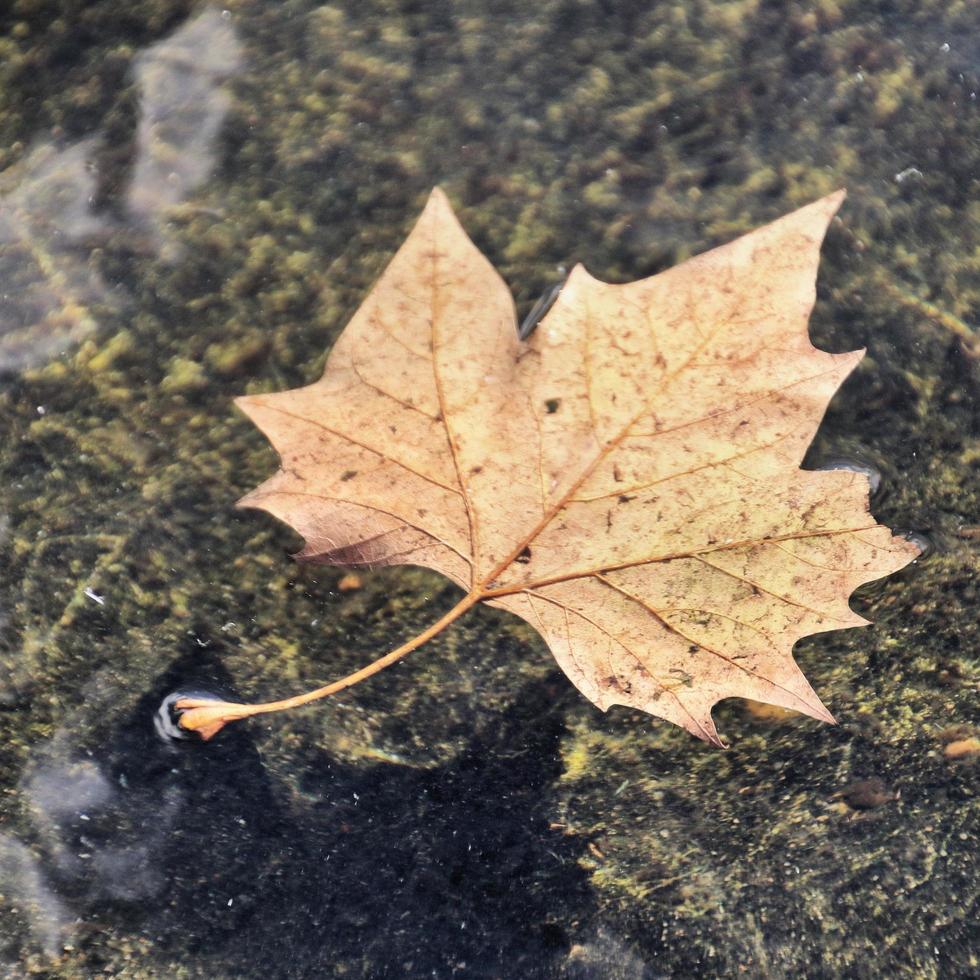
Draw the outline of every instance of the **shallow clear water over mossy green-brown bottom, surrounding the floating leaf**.
[[[976,975],[978,58],[967,2],[4,5],[0,971]],[[838,726],[726,702],[715,751],[476,610],[158,737],[457,600],[233,509],[231,399],[319,375],[435,184],[522,316],[848,188],[811,329],[868,356],[809,465],[930,552],[797,646]]]

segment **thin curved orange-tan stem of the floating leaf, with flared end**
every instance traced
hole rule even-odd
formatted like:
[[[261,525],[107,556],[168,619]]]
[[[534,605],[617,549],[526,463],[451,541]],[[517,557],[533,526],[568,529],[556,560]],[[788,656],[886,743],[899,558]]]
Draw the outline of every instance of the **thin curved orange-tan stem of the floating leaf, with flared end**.
[[[393,663],[401,660],[413,650],[418,649],[423,643],[431,640],[434,636],[441,633],[447,626],[459,619],[467,610],[475,606],[483,598],[483,593],[479,591],[468,592],[449,612],[441,619],[436,620],[428,629],[423,630],[418,636],[396,647],[390,653],[369,663],[366,667],[348,674],[332,684],[325,687],[318,687],[315,691],[307,691],[305,694],[297,694],[291,698],[284,698],[281,701],[266,701],[262,704],[240,704],[235,701],[211,701],[206,698],[181,698],[174,702],[174,711],[177,712],[177,723],[186,731],[197,732],[205,741],[214,737],[229,722],[237,718],[249,718],[252,715],[270,714],[274,711],[287,711],[290,708],[298,708],[300,705],[309,704],[311,701],[319,701],[321,698],[330,697],[338,691],[353,687],[368,677],[379,673],[385,667],[390,667]]]

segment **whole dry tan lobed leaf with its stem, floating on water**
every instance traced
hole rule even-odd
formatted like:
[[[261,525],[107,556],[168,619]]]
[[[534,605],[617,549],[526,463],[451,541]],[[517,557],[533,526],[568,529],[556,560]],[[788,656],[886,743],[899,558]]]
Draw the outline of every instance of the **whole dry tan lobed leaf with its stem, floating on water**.
[[[625,285],[577,266],[530,341],[507,286],[435,190],[315,384],[238,399],[282,468],[240,504],[297,556],[423,565],[465,592],[348,678],[266,705],[177,702],[205,737],[334,693],[477,603],[545,638],[599,707],[721,744],[715,702],[832,721],[793,644],[866,623],[855,587],[917,554],[878,526],[868,480],[800,462],[863,351],[807,334],[843,192]]]

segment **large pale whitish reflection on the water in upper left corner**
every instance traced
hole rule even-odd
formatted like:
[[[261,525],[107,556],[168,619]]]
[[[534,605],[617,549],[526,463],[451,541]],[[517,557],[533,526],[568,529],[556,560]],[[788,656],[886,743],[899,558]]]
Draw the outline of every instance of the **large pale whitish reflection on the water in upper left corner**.
[[[205,8],[134,60],[140,121],[119,206],[95,206],[100,137],[35,147],[0,174],[0,375],[44,364],[92,333],[98,309],[126,297],[98,250],[175,261],[171,209],[214,173],[231,105],[224,82],[242,62],[232,24]]]

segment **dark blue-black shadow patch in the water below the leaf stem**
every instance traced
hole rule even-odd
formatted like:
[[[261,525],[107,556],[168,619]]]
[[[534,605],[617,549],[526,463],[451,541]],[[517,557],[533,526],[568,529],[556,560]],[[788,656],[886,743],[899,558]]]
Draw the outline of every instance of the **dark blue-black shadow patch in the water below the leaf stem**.
[[[206,746],[159,737],[151,719],[178,691],[227,687],[212,656],[181,658],[86,753],[104,792],[89,794],[83,823],[59,816],[43,858],[73,909],[152,935],[162,957],[220,956],[240,977],[338,962],[371,976],[558,970],[591,896],[585,842],[549,826],[563,732],[553,687],[529,684],[451,767],[355,768],[310,749],[303,807],[270,778],[249,723]],[[91,860],[59,867],[57,852],[78,847]]]

